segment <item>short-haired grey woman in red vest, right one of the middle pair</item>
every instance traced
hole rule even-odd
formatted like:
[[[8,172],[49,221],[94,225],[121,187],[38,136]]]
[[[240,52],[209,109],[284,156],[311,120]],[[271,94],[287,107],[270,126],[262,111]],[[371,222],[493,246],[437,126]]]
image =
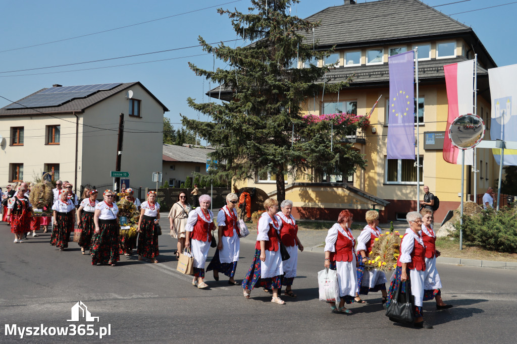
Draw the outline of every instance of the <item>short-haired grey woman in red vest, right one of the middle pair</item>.
[[[282,277],[282,286],[285,287],[284,295],[290,298],[296,298],[297,295],[293,292],[292,286],[294,278],[296,277],[296,267],[298,265],[298,249],[303,251],[303,245],[298,239],[298,225],[291,211],[293,210],[293,202],[284,199],[280,204],[281,212],[277,216],[281,221],[280,240],[287,248],[289,259],[282,262],[284,275]]]

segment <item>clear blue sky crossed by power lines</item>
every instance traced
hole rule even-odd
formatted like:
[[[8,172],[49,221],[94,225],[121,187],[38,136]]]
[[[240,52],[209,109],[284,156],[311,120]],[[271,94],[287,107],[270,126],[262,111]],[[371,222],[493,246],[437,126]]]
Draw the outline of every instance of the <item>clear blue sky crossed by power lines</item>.
[[[3,0],[3,18],[0,21],[0,30],[3,33],[0,51],[3,52],[0,52],[0,72],[182,48],[196,45],[198,36],[202,36],[207,42],[232,40],[236,36],[229,19],[226,16],[221,17],[214,7],[97,35],[6,51],[155,20],[230,1],[232,0],[190,2],[153,0],[145,2],[135,0],[125,0],[124,2],[105,0],[24,2]],[[456,1],[459,0],[430,0],[426,3],[435,6]],[[363,2],[367,1],[359,1],[359,3]],[[440,6],[436,9],[445,14],[451,14],[510,2],[512,1],[470,0]],[[231,9],[237,7],[241,11],[246,11],[249,4],[249,0],[241,0],[219,7]],[[326,7],[342,4],[343,0],[302,0],[300,4],[293,7],[292,14],[306,18]],[[473,27],[497,65],[506,66],[517,64],[515,13],[517,13],[517,3],[454,14],[452,18]],[[375,23],[373,22],[372,25]],[[353,22],[351,22],[351,27],[353,27]],[[227,44],[233,46],[242,44],[242,41]],[[71,70],[134,64],[197,54],[203,54],[199,47],[68,67],[0,73],[0,96],[18,100],[43,87],[51,87],[52,84],[72,86],[140,81],[169,108],[170,112],[165,113],[165,116],[170,117],[173,123],[177,123],[180,120],[179,113],[197,118],[197,113],[186,104],[187,97],[193,97],[199,101],[203,97],[205,101],[208,98],[203,96],[203,90],[208,90],[208,81],[203,83],[201,77],[195,76],[187,62],[191,61],[197,66],[211,69],[211,55],[124,67]],[[216,61],[217,66],[224,67],[224,64]],[[21,75],[60,71],[68,72]],[[0,99],[0,107],[8,104],[8,101]],[[206,119],[206,117],[202,116],[201,119]],[[178,127],[178,124],[174,124],[174,126]]]

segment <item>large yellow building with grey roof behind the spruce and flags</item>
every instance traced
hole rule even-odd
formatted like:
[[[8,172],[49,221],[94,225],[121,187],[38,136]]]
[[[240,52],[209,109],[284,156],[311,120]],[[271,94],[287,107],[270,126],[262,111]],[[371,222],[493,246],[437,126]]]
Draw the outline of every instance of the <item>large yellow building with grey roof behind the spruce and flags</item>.
[[[345,1],[344,5],[326,8],[307,20],[321,21],[321,26],[314,29],[317,49],[335,46],[335,52],[324,61],[299,61],[298,68],[326,64],[332,66],[326,82],[344,81],[348,77],[353,81],[339,95],[320,93],[309,98],[303,104],[306,109],[303,115],[337,112],[367,115],[377,99],[381,99],[370,118],[370,128],[346,138],[365,155],[366,170],[358,170],[348,177],[324,175],[318,183],[288,176],[285,198],[294,202],[294,213],[302,218],[333,220],[341,209],[348,208],[358,215],[356,220],[363,220],[364,212],[375,205],[375,209],[381,211],[382,220],[390,221],[418,210],[414,161],[386,159],[388,57],[418,47],[418,154],[423,166],[420,199],[423,199],[423,185],[428,185],[431,193],[440,199],[435,221],[442,221],[448,210],[458,208],[461,190],[461,165],[445,162],[442,155],[448,115],[444,65],[473,59],[477,53],[477,89],[480,90],[477,114],[486,123],[485,139],[490,139],[487,69],[497,67],[490,54],[472,28],[416,0],[361,4]],[[312,42],[312,32],[307,39]],[[477,150],[477,166],[476,175],[470,166],[465,167],[465,194],[483,194],[497,178],[498,168],[490,150]],[[477,178],[477,190],[474,190],[474,178]],[[276,183],[269,175],[237,185],[256,186],[273,197],[276,194]]]

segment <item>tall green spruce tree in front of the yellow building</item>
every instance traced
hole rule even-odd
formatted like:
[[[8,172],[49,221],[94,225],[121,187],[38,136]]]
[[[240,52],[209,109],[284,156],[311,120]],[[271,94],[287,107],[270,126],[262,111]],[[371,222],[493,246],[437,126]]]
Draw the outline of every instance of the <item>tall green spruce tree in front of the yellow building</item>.
[[[211,159],[219,162],[217,170],[212,170],[216,178],[246,179],[269,173],[276,177],[279,201],[285,199],[287,173],[313,178],[339,171],[349,176],[356,167],[366,166],[357,150],[339,140],[364,126],[366,119],[338,115],[311,120],[301,116],[308,100],[322,97],[323,91],[337,92],[347,84],[329,83],[329,68],[314,62],[298,68],[297,61],[317,61],[333,51],[318,51],[312,40],[312,29],[319,22],[290,15],[290,7],[296,3],[298,0],[251,0],[248,13],[218,9],[229,16],[238,36],[253,43],[230,48],[223,43],[211,46],[199,38],[203,49],[228,67],[213,71],[189,62],[190,68],[219,84],[224,92],[231,92],[231,97],[222,104],[188,99],[190,107],[211,121],[182,116],[185,127],[216,148],[211,153]]]

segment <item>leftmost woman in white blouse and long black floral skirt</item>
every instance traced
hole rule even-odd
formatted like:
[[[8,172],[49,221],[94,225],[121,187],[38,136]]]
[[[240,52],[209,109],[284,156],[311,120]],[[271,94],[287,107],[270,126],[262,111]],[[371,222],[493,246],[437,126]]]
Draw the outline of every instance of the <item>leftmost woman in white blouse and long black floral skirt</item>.
[[[75,206],[67,197],[67,191],[61,190],[59,198],[52,206],[54,226],[50,235],[50,244],[56,246],[59,251],[68,247],[68,230],[75,223]]]

